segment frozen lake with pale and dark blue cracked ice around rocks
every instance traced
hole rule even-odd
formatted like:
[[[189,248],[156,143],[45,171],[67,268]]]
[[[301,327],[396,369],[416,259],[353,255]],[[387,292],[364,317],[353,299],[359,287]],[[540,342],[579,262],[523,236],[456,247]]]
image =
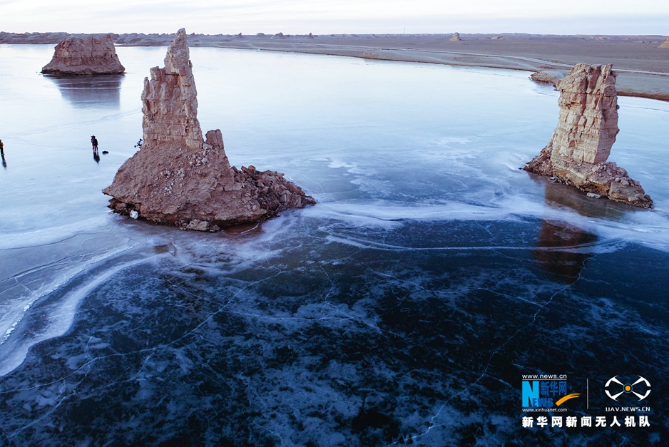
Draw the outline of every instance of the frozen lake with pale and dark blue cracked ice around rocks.
[[[319,203],[181,232],[106,208],[165,56],[117,51],[0,46],[0,445],[667,442],[669,103],[619,98],[638,210],[519,170],[558,116],[526,72],[191,48],[230,164]],[[523,374],[593,418],[643,376],[650,427],[522,428]]]

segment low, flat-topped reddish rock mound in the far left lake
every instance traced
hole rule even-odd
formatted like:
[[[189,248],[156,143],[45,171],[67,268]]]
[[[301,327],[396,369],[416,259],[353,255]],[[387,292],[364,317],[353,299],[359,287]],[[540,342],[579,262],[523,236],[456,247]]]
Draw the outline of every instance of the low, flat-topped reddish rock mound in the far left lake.
[[[118,61],[111,34],[63,38],[42,73],[57,75],[116,74],[126,71]]]

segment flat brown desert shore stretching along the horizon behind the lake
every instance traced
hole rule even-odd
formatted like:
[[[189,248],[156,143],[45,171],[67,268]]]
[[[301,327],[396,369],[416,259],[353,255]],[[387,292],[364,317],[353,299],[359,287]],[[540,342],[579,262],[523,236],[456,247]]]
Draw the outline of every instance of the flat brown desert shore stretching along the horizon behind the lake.
[[[0,44],[58,43],[67,33],[0,33]],[[113,34],[117,46],[166,46],[173,34]],[[511,70],[568,71],[576,63],[612,63],[621,96],[669,101],[665,36],[551,36],[534,34],[190,34],[191,47],[351,56]]]

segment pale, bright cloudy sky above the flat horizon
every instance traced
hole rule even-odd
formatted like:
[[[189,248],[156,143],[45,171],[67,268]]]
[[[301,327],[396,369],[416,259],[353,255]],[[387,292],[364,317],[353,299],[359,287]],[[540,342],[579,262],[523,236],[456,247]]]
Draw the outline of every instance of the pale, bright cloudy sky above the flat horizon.
[[[0,31],[669,34],[669,0],[0,0]]]

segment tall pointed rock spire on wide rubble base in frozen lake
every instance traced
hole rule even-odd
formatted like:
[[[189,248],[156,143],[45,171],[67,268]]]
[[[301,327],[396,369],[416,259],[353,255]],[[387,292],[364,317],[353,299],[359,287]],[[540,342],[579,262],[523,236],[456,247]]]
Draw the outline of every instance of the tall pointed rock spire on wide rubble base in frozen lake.
[[[186,34],[180,29],[144,79],[144,144],[103,192],[112,210],[187,230],[217,231],[315,204],[273,171],[231,168],[220,130],[203,139]]]

